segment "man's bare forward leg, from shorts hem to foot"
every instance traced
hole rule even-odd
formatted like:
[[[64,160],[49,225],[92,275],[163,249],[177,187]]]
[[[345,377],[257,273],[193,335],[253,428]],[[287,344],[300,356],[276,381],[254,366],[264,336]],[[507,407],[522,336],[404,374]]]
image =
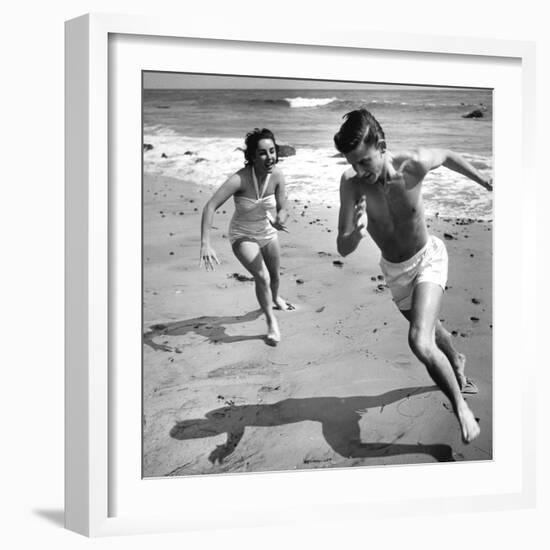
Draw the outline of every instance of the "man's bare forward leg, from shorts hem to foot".
[[[409,312],[409,345],[428,369],[434,382],[450,400],[460,424],[462,439],[465,443],[470,443],[479,435],[479,425],[460,393],[457,377],[449,359],[436,344],[435,327],[442,296],[442,288],[435,283],[424,282],[415,287]]]

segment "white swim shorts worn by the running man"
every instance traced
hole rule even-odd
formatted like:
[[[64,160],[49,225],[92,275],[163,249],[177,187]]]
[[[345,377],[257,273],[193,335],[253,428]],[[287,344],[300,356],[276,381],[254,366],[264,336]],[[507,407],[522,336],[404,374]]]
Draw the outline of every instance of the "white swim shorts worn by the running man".
[[[423,282],[431,282],[445,290],[449,257],[441,239],[430,235],[428,242],[412,258],[404,262],[388,262],[380,258],[380,269],[390,288],[397,307],[407,311],[412,307],[414,287]]]

